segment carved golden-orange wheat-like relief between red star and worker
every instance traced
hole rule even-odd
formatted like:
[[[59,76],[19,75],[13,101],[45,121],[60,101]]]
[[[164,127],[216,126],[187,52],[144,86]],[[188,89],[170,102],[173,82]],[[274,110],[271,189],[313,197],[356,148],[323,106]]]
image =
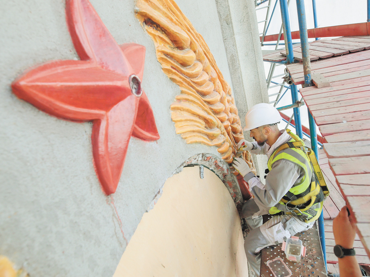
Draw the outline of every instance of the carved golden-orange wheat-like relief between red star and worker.
[[[154,41],[163,72],[180,86],[171,105],[176,132],[186,143],[217,146],[231,163],[243,128],[231,88],[202,36],[173,0],[137,0],[135,12]],[[255,172],[250,153],[243,157]]]

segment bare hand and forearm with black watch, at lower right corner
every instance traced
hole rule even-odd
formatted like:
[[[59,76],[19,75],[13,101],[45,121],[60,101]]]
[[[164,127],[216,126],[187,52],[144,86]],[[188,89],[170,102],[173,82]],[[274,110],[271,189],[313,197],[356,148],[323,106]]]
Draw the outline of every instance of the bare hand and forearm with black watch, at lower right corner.
[[[346,249],[353,248],[356,236],[356,224],[348,216],[347,206],[344,206],[339,215],[333,220],[335,244]],[[340,277],[362,277],[356,256],[338,258]]]

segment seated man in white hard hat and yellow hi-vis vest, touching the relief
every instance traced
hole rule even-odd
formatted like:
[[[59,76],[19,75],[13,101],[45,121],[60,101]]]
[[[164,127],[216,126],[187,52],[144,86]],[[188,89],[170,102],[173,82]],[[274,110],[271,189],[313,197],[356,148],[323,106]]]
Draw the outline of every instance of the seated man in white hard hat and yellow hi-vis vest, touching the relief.
[[[311,228],[321,213],[324,198],[319,186],[314,198],[309,195],[315,193],[308,195],[312,187],[317,188],[312,165],[305,148],[297,149],[292,145],[296,141],[302,145],[302,140],[278,129],[281,119],[279,111],[271,105],[253,106],[246,114],[244,130],[250,130],[250,137],[255,141],[238,143],[239,150],[267,155],[266,184],[250,171],[243,159],[235,158],[232,164],[247,181],[254,196],[244,203],[243,216],[250,230],[245,240],[247,260],[257,276],[260,276],[261,249]],[[300,200],[305,195],[310,199],[306,201],[306,197],[302,204]],[[294,202],[297,199],[300,205],[292,205],[297,204]],[[262,215],[268,214],[273,217],[262,224]]]

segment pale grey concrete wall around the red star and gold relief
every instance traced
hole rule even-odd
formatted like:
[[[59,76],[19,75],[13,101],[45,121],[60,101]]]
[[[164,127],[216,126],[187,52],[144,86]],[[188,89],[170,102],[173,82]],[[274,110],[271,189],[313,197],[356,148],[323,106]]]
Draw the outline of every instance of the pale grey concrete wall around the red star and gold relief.
[[[218,4],[177,2],[204,37],[225,79],[236,86]],[[11,82],[32,66],[78,59],[65,22],[64,0],[1,3],[0,254],[31,276],[112,276],[146,208],[172,172],[194,154],[219,155],[215,147],[186,145],[176,135],[169,107],[180,90],[162,72],[153,42],[134,16],[135,1],[91,3],[118,44],[146,47],[142,84],[161,138],[150,143],[131,138],[117,191],[105,196],[93,166],[92,124],[50,116],[10,90]],[[230,9],[239,7],[230,4]],[[247,33],[238,38],[243,37],[246,42],[256,39]],[[249,58],[262,64],[258,55]],[[240,60],[247,70],[249,59]],[[250,79],[243,71],[239,78],[244,84],[238,91],[248,97],[254,84],[246,81]],[[254,90],[251,98],[263,99],[261,91]],[[242,98],[236,95],[239,109],[246,105]]]

